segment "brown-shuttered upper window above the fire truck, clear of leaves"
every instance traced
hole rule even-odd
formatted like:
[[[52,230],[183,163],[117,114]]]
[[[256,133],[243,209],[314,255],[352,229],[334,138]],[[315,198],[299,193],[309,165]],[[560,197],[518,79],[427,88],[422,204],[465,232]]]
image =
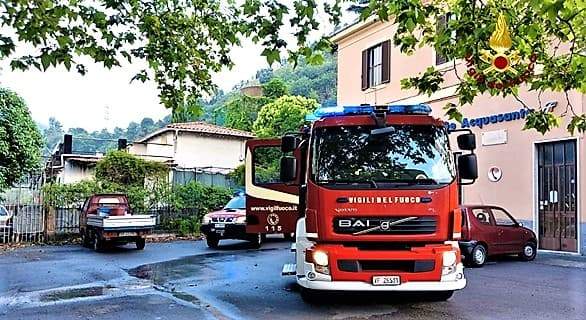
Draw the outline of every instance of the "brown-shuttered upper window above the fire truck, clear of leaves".
[[[362,90],[390,81],[390,41],[362,51]]]

